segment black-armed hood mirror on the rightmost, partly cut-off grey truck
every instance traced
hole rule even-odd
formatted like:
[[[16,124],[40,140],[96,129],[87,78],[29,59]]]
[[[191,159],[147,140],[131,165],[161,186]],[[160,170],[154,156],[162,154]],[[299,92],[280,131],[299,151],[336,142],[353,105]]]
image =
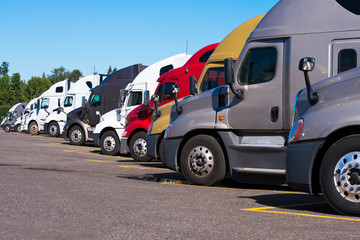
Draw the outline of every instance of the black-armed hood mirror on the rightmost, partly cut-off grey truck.
[[[308,74],[308,72],[312,71],[314,67],[315,67],[314,58],[305,57],[302,58],[299,62],[299,70],[304,72],[307,98],[310,105],[315,105],[319,101],[319,94],[317,92],[313,92]]]

